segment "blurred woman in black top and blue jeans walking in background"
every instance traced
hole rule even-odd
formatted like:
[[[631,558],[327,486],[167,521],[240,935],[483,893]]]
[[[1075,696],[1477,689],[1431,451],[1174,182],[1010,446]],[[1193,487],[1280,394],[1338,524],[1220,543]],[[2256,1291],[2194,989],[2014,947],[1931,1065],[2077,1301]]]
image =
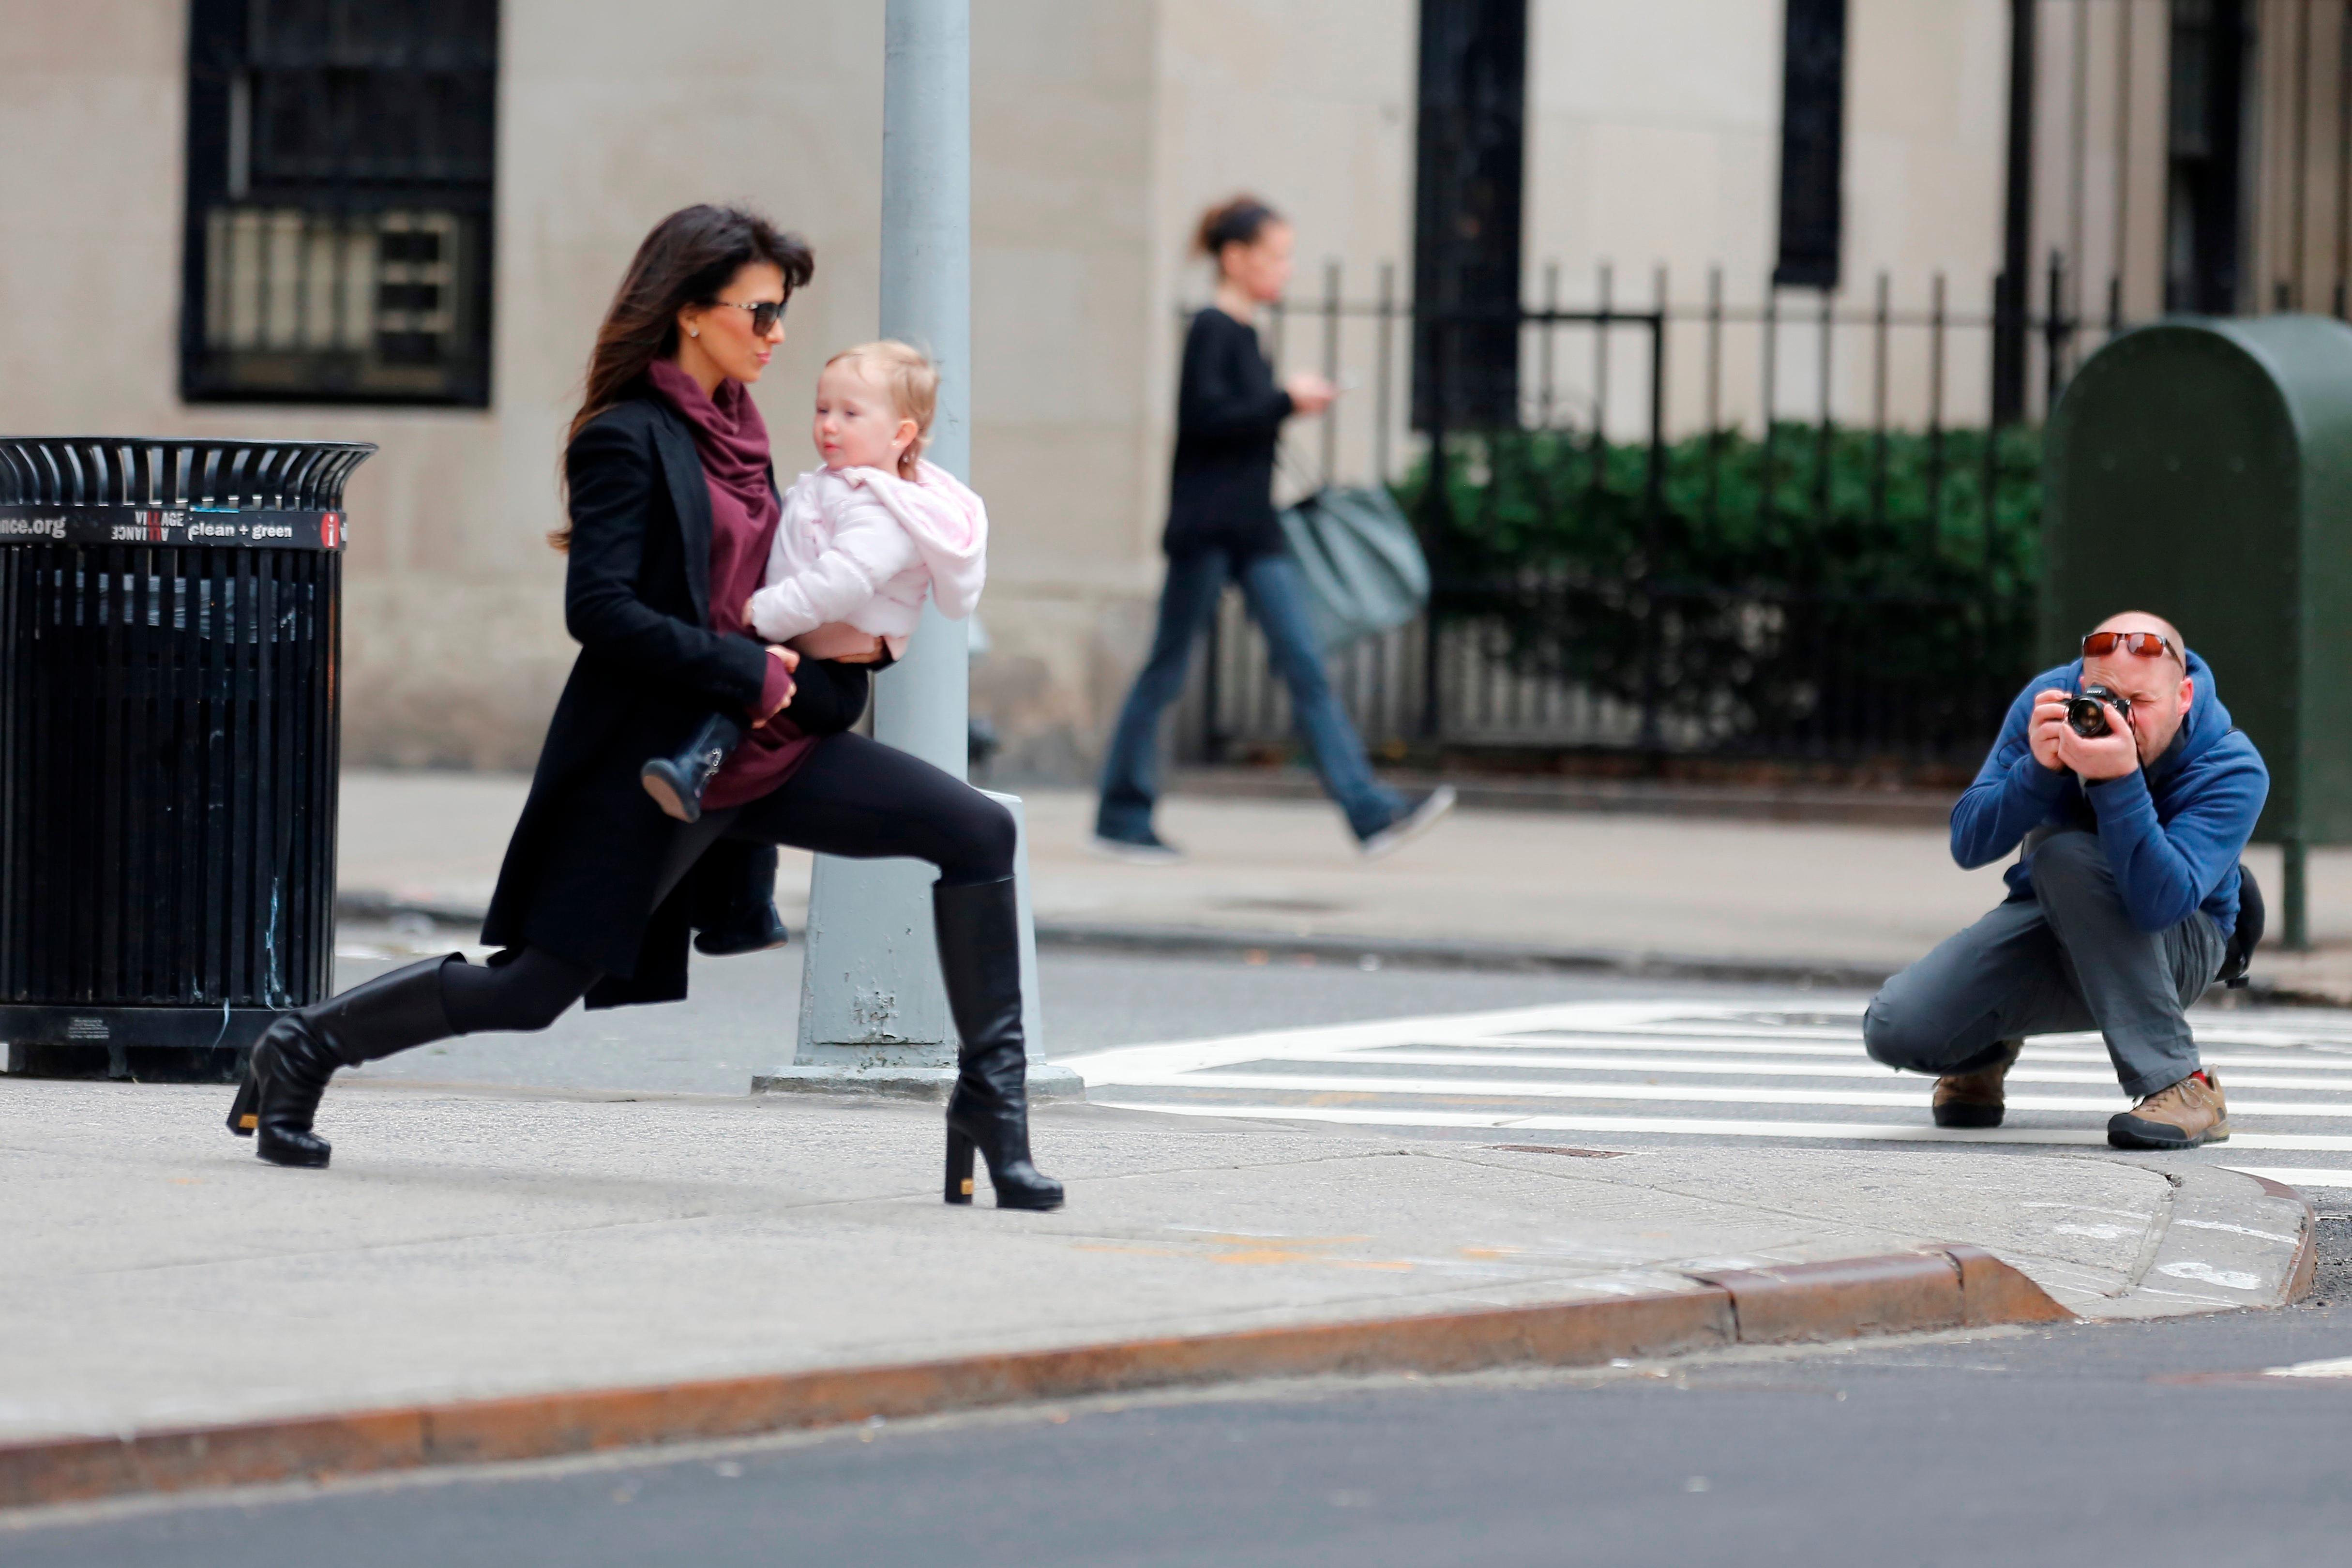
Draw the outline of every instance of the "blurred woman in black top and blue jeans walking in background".
[[[1275,386],[1258,348],[1258,308],[1282,299],[1291,277],[1291,226],[1265,202],[1237,195],[1202,216],[1195,249],[1216,261],[1216,303],[1192,317],[1183,343],[1160,630],[1110,736],[1094,849],[1143,865],[1183,858],[1152,830],[1160,715],[1183,691],[1192,642],[1216,616],[1225,583],[1240,581],[1291,689],[1291,712],[1324,792],[1348,816],[1357,846],[1381,856],[1437,823],[1454,806],[1454,788],[1406,799],[1371,776],[1364,741],[1338,705],[1315,646],[1305,583],[1282,548],[1275,522],[1282,421],[1322,414],[1336,393],[1315,374]]]

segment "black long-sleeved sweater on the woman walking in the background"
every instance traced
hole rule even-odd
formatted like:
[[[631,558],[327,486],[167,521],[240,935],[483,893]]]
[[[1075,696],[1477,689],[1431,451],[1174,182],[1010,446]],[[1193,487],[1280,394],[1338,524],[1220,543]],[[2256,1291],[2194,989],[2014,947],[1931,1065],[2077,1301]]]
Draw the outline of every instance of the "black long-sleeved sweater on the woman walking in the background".
[[[1169,555],[1230,550],[1237,562],[1282,548],[1275,522],[1275,442],[1291,395],[1258,348],[1258,331],[1216,306],[1192,317],[1176,390]]]

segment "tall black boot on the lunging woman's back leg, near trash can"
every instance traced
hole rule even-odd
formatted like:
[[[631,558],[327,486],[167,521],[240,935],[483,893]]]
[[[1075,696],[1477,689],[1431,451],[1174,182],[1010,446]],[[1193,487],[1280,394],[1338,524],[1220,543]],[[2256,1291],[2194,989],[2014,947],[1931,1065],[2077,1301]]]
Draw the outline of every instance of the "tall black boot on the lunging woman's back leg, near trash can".
[[[254,1044],[228,1131],[252,1138],[254,1154],[270,1164],[325,1166],[334,1150],[310,1131],[310,1119],[334,1070],[456,1034],[440,997],[449,959],[463,961],[449,952],[409,964],[273,1023]]]

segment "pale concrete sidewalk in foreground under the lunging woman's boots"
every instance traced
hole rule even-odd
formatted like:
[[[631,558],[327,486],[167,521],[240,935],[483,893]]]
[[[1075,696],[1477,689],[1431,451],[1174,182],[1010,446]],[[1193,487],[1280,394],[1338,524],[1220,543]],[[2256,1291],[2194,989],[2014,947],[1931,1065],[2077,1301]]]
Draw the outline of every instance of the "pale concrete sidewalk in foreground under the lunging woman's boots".
[[[219,1088],[7,1098],[16,1502],[54,1495],[24,1479],[42,1453],[87,1469],[61,1441],[174,1427],[863,1368],[826,1406],[854,1410],[858,1380],[913,1363],[1084,1352],[1101,1373],[1185,1335],[1689,1305],[1926,1244],[2145,1316],[2277,1305],[2310,1253],[2307,1206],[2253,1178],[1973,1147],[1611,1154],[1070,1105],[1035,1133],[1070,1206],[1028,1215],[985,1182],[981,1208],[938,1201],[924,1107],[358,1079],[327,1100],[334,1166],[282,1171],[221,1128]],[[2023,1316],[2056,1314],[2027,1295]]]

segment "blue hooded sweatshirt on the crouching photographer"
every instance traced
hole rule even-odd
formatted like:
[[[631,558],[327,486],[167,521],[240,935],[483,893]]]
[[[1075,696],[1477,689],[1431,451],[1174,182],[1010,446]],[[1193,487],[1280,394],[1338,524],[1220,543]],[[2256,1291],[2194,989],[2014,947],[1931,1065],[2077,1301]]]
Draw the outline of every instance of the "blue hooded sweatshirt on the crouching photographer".
[[[2227,938],[2237,929],[2237,858],[2270,795],[2270,769],[2253,741],[2230,729],[2213,670],[2187,656],[2197,691],[2180,733],[2136,773],[2084,788],[2072,771],[2034,762],[2027,741],[2034,696],[2082,691],[2082,661],[2044,670],[2009,705],[2002,738],[1952,806],[1952,858],[1976,870],[2016,849],[2027,832],[2096,827],[2140,931],[2166,931],[2204,910]],[[2004,872],[2011,898],[2030,898],[2032,856]]]

